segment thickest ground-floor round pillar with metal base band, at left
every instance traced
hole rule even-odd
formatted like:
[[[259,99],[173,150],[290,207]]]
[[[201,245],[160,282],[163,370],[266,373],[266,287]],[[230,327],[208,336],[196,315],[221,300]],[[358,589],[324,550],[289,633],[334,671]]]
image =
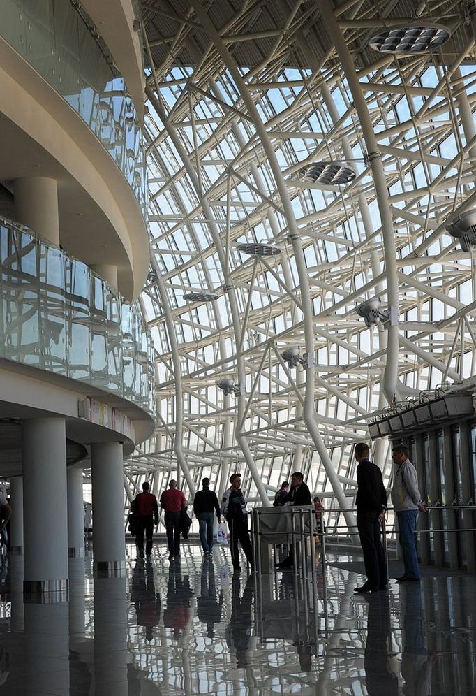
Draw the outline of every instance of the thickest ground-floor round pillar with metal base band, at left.
[[[22,447],[24,590],[59,600],[68,590],[64,419],[25,419]]]

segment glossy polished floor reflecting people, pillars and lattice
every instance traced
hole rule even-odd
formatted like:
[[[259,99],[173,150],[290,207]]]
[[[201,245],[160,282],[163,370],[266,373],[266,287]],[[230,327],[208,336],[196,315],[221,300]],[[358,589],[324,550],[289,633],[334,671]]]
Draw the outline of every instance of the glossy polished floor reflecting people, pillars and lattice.
[[[223,549],[167,556],[128,546],[126,578],[71,559],[62,604],[24,603],[22,558],[3,558],[0,696],[476,693],[474,576],[425,569],[356,597],[355,559],[329,556],[326,612],[321,571],[313,607],[290,572],[256,583]]]

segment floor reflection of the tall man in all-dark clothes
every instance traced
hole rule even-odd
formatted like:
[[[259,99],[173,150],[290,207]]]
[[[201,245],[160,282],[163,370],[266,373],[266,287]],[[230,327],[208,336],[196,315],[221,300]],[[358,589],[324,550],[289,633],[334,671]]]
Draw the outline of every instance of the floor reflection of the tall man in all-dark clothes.
[[[367,639],[364,653],[365,683],[369,696],[397,696],[395,653],[392,651],[392,629],[388,596],[383,593],[366,594],[369,602]]]

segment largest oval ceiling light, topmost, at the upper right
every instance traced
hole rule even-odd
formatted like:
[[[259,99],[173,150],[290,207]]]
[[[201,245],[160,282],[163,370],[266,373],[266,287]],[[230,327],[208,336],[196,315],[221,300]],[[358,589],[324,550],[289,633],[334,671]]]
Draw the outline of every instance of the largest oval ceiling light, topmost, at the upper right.
[[[434,51],[451,36],[441,24],[418,22],[401,27],[382,27],[369,41],[374,51],[380,53],[413,54]]]

